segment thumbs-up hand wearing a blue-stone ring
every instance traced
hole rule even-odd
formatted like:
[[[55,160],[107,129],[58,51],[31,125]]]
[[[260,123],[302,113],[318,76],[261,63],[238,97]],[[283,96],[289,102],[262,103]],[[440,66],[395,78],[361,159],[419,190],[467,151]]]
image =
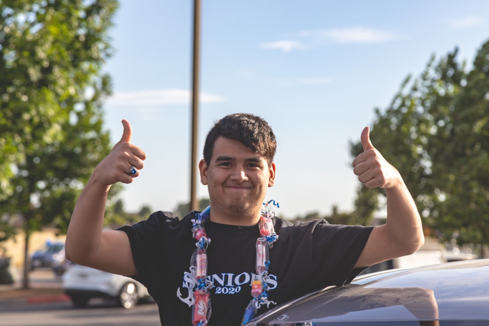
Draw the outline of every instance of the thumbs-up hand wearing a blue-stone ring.
[[[100,162],[92,177],[96,178],[104,186],[110,186],[116,182],[131,183],[133,178],[139,175],[139,170],[144,167],[143,161],[146,153],[131,143],[133,128],[127,120],[122,120],[124,131],[121,140],[114,145],[112,151]],[[135,172],[130,173],[132,169]]]

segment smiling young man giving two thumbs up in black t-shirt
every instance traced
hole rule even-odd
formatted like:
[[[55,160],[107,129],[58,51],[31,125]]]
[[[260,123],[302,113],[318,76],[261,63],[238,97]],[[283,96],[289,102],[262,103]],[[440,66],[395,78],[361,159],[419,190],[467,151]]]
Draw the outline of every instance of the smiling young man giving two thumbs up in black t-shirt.
[[[225,116],[207,135],[199,169],[210,210],[181,220],[156,212],[133,226],[102,231],[111,184],[131,183],[145,159],[131,144],[131,125],[122,123],[121,140],[76,203],[66,255],[145,284],[162,325],[240,325],[273,304],[348,283],[362,267],[411,254],[424,242],[414,200],[399,172],[373,147],[368,128],[354,173],[366,187],[385,189],[385,225],[292,225],[267,208],[264,216],[262,204],[275,179],[276,140],[265,120],[244,113]]]

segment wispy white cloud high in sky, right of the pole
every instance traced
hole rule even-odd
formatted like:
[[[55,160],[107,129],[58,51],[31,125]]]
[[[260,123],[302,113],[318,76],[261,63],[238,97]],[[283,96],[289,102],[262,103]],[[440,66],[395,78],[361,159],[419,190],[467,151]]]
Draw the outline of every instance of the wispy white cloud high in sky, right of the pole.
[[[398,39],[400,35],[389,31],[366,27],[347,27],[301,31],[288,40],[263,43],[261,47],[291,52],[332,43],[383,43]]]

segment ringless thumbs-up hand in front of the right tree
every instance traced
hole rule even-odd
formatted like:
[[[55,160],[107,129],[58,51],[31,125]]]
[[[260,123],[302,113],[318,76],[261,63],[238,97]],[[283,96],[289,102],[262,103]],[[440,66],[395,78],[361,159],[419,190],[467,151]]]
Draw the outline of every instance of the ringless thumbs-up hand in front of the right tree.
[[[361,133],[360,141],[363,153],[356,156],[353,161],[353,172],[358,180],[367,188],[393,188],[402,182],[396,168],[389,164],[377,151],[370,141],[370,129],[365,127]]]

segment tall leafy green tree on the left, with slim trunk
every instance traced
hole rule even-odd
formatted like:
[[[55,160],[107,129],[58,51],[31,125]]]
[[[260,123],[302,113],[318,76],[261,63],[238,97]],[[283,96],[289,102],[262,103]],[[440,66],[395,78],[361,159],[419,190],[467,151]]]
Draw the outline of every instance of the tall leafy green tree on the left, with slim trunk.
[[[110,151],[102,101],[116,0],[0,0],[0,216],[29,236],[65,230],[92,168]],[[15,150],[14,150],[15,149]],[[24,264],[23,287],[28,284]]]

